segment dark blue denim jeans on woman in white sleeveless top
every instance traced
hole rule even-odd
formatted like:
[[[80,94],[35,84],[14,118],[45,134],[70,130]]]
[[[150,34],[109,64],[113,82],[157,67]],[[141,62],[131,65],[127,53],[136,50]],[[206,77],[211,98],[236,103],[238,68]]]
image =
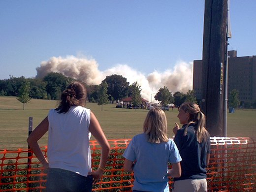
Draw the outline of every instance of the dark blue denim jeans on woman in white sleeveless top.
[[[93,176],[87,177],[58,168],[49,168],[46,192],[92,192]]]

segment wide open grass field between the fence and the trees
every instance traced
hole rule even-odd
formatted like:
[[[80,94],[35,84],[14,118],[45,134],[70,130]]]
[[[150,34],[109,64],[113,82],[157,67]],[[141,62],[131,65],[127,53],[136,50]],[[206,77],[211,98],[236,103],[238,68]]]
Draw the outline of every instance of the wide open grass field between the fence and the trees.
[[[27,148],[26,138],[28,136],[29,117],[33,117],[33,128],[48,114],[48,110],[55,108],[58,101],[32,99],[25,105],[16,97],[0,96],[0,150],[16,150]],[[144,109],[122,109],[115,108],[115,104],[101,106],[96,103],[87,103],[96,115],[103,131],[108,139],[132,138],[135,134],[142,132],[142,125],[148,110]],[[174,122],[178,122],[178,111],[165,112],[169,131],[172,136]],[[256,126],[254,119],[256,110],[236,110],[228,113],[227,135],[229,137],[256,137]],[[93,138],[92,138],[93,139]],[[47,144],[47,135],[39,141],[40,146]]]

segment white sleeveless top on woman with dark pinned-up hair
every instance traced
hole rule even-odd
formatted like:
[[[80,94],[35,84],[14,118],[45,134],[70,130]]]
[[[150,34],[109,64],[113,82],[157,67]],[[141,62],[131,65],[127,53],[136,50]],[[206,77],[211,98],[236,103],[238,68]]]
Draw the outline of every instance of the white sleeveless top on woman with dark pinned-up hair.
[[[50,168],[61,168],[87,176],[91,171],[90,109],[72,106],[66,113],[48,114],[48,160]]]

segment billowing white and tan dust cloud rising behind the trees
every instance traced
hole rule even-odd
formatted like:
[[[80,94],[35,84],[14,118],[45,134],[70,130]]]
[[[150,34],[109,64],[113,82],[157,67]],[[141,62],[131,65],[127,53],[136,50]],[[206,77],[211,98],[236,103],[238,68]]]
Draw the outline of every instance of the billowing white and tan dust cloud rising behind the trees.
[[[142,97],[148,101],[155,101],[154,96],[163,86],[167,86],[172,94],[176,91],[186,93],[192,89],[192,63],[183,61],[176,63],[173,69],[167,69],[164,72],[153,71],[145,75],[127,64],[117,64],[105,71],[99,71],[94,59],[67,56],[66,58],[52,57],[49,61],[42,62],[36,70],[37,78],[43,78],[49,72],[59,72],[89,85],[100,84],[106,76],[122,75],[127,78],[130,85],[137,81],[142,89]]]

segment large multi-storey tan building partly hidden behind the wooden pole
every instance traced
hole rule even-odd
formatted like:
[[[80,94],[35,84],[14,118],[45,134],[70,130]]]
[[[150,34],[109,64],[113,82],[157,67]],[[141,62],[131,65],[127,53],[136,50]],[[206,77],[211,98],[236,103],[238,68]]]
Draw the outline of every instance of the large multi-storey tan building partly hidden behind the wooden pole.
[[[202,60],[193,62],[193,90],[202,98]],[[237,51],[228,51],[228,93],[239,91],[243,102],[256,101],[256,56],[237,57]]]

